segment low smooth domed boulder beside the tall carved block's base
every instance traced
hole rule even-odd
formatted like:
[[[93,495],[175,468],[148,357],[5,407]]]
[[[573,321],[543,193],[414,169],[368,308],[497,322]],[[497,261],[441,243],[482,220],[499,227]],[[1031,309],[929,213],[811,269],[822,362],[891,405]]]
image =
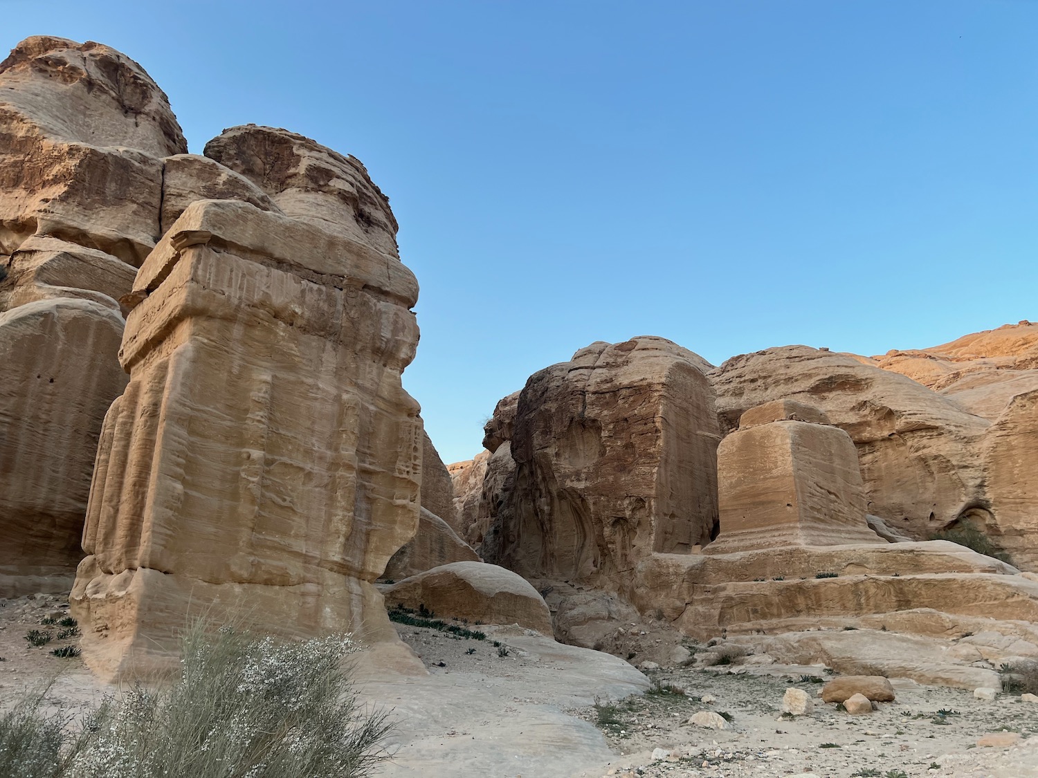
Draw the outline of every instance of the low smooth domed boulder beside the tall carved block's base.
[[[438,616],[488,624],[516,623],[550,636],[551,614],[532,586],[511,571],[484,562],[454,562],[384,590],[386,607],[425,606]]]

